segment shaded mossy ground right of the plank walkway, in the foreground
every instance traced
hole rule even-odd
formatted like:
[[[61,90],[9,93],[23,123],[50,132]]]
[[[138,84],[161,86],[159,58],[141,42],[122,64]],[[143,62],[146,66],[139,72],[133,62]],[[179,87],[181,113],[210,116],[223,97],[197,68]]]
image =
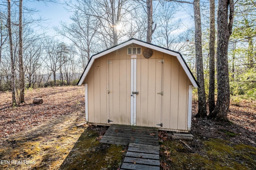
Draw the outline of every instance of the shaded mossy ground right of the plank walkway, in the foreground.
[[[202,153],[197,154],[179,141],[166,140],[160,148],[161,169],[256,169],[256,148],[252,146],[216,138],[203,144]]]

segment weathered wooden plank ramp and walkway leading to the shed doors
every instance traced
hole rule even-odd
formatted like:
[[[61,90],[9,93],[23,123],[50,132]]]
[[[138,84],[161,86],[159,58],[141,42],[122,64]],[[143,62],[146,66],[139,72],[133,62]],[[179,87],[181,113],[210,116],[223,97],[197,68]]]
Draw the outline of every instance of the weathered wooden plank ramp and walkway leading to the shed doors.
[[[158,128],[111,125],[100,142],[128,145],[121,170],[160,170]]]

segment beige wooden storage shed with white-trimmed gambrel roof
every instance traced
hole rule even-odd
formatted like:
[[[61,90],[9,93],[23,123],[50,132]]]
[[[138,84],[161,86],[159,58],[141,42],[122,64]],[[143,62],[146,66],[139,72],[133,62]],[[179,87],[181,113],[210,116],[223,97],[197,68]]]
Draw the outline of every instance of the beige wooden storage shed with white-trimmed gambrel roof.
[[[82,84],[90,124],[190,130],[198,83],[176,51],[132,38],[93,55]]]

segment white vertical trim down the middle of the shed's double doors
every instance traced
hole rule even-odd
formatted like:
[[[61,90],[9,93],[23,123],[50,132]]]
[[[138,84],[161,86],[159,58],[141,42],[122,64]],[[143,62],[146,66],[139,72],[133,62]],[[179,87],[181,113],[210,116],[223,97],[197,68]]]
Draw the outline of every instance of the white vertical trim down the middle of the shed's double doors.
[[[137,59],[131,59],[131,125],[136,126]]]

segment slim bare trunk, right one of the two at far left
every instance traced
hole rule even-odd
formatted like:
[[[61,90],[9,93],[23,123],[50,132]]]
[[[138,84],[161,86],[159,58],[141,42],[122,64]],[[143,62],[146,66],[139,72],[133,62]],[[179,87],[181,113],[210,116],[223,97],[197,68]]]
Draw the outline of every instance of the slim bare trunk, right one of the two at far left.
[[[23,0],[20,0],[19,4],[19,73],[20,73],[20,101],[19,103],[24,103],[24,69],[23,69],[23,43],[22,43],[22,3]]]

